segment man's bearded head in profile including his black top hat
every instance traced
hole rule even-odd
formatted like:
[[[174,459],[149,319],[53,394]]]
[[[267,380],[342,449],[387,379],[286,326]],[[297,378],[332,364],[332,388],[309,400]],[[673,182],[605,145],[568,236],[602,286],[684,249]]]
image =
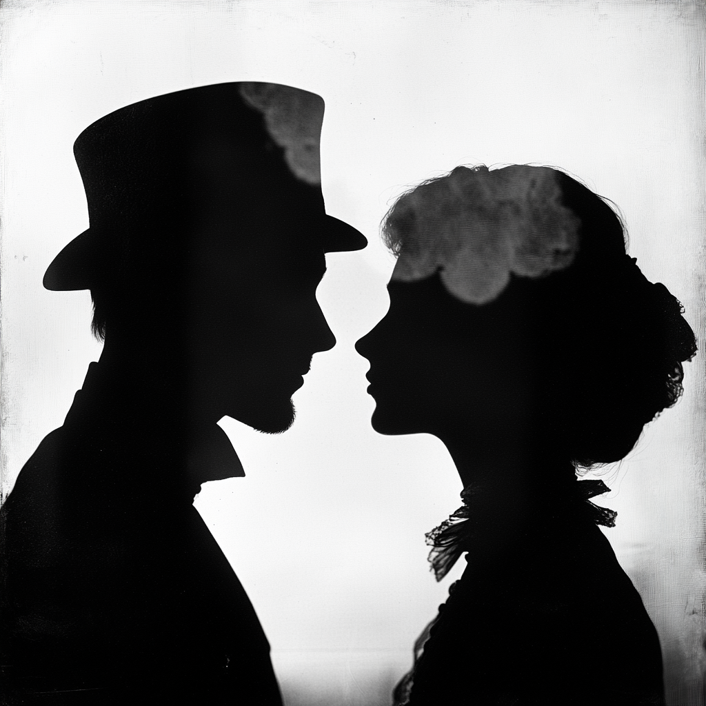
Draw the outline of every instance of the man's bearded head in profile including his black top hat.
[[[224,83],[118,109],[74,143],[90,229],[44,286],[90,289],[102,360],[184,420],[284,431],[311,357],[335,343],[316,300],[324,253],[366,240],[325,213],[322,119],[317,95]]]

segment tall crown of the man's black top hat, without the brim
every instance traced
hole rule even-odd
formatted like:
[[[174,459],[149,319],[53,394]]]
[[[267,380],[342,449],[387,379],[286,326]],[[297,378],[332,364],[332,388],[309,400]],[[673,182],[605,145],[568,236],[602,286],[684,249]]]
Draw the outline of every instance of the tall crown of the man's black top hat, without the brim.
[[[256,86],[265,88],[258,93]],[[265,90],[273,86],[287,92]],[[258,108],[244,97],[245,89],[249,95],[266,95],[268,102],[261,101]],[[299,129],[306,136],[306,150],[296,144],[292,126],[296,128],[297,120],[307,126],[306,131]],[[194,183],[205,172],[226,169],[225,162],[244,182],[258,174],[261,180],[295,179],[318,187],[315,179],[301,178],[302,169],[297,174],[290,155],[309,152],[319,163],[322,121],[321,97],[273,84],[201,86],[120,108],[85,128],[73,145],[91,225],[139,220],[148,211],[181,210],[198,196]]]

